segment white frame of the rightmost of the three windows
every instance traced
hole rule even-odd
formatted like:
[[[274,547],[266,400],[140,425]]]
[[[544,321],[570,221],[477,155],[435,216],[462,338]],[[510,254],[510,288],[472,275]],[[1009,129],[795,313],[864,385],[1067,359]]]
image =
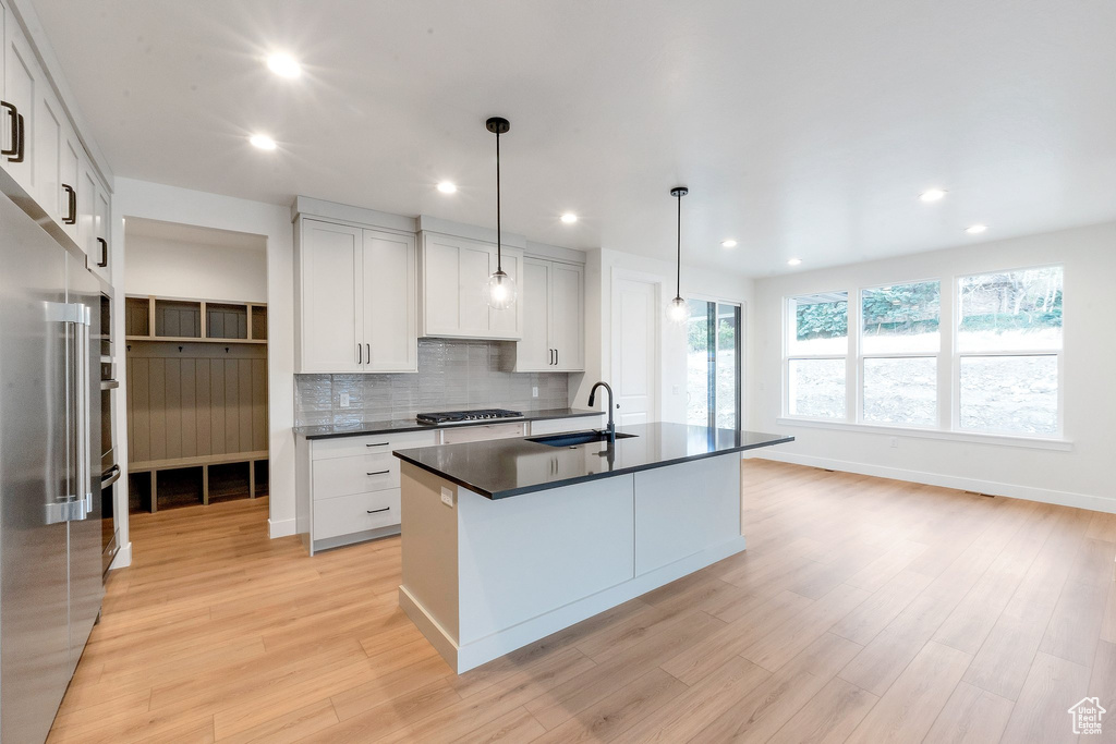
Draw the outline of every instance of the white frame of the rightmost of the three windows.
[[[961,280],[969,277],[979,277],[981,274],[990,273],[1014,273],[1018,271],[1033,271],[1037,269],[1060,269],[1061,270],[1061,289],[1062,289],[1062,325],[1061,325],[1061,344],[1057,350],[1054,349],[1035,349],[1035,348],[1019,348],[1019,349],[1002,349],[994,351],[962,351],[961,350],[961,322],[964,317],[961,312]],[[1066,355],[1066,264],[1054,262],[1054,263],[1038,263],[1033,265],[1014,267],[1011,269],[992,269],[987,271],[972,271],[966,273],[954,274],[953,277],[953,322],[951,326],[951,341],[952,341],[952,359],[951,359],[951,386],[950,386],[950,431],[956,434],[964,435],[975,435],[975,436],[1010,436],[1020,437],[1027,439],[1065,439],[1066,436],[1066,386],[1065,380],[1065,355]],[[1056,413],[1056,429],[1052,433],[1042,434],[1029,434],[1027,432],[1003,432],[1003,431],[983,431],[983,429],[968,429],[961,426],[961,360],[965,357],[1057,357],[1058,359],[1058,410]]]

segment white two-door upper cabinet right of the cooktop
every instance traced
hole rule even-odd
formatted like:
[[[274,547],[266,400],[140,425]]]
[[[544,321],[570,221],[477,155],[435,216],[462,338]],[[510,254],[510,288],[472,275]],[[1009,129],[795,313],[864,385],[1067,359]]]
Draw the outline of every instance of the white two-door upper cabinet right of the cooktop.
[[[585,369],[585,267],[523,259],[523,338],[516,371]]]

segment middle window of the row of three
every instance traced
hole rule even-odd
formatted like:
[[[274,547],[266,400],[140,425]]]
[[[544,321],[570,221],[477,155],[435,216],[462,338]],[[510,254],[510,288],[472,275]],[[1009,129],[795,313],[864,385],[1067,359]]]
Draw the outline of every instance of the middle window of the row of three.
[[[867,424],[936,426],[937,281],[860,292],[860,419]]]

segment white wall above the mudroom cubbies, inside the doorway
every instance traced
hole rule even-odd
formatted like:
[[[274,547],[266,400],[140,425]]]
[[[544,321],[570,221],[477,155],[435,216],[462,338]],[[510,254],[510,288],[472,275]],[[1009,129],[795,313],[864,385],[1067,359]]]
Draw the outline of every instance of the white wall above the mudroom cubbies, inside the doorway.
[[[203,245],[127,230],[124,291],[231,302],[267,302],[268,267],[261,247]]]

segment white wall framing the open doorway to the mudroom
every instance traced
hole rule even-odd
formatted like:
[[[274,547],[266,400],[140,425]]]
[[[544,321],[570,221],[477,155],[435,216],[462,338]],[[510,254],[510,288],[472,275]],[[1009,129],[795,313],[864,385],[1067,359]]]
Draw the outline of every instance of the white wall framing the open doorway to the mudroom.
[[[113,195],[113,255],[124,255],[124,220],[145,218],[180,224],[231,230],[267,240],[268,302],[268,416],[270,425],[270,519],[272,538],[295,534],[295,250],[290,209],[231,196],[221,196],[163,184],[116,178]],[[116,274],[119,276],[118,273]],[[116,334],[124,338],[123,293],[116,298]],[[124,376],[124,345],[116,346],[117,370]],[[127,380],[117,396],[117,422],[125,421]],[[127,431],[118,427],[121,465],[127,457]],[[121,494],[116,513],[126,515],[127,493]],[[122,519],[121,543],[131,554],[127,521]],[[126,562],[121,564],[126,566]]]

